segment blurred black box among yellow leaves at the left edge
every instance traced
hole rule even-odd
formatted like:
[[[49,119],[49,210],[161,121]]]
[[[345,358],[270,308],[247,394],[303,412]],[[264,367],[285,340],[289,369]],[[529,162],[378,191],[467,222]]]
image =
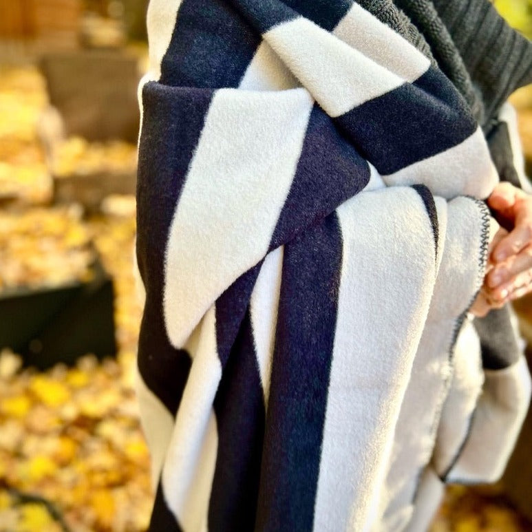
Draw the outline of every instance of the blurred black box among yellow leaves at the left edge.
[[[40,370],[88,353],[116,354],[113,281],[99,260],[92,270],[86,283],[0,292],[0,348]]]

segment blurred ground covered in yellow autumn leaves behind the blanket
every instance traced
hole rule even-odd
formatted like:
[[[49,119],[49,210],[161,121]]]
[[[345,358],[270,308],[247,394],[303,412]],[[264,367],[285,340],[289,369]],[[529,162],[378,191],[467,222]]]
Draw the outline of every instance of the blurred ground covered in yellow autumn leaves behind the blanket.
[[[134,200],[108,198],[105,213],[88,219],[77,206],[48,206],[47,166],[36,135],[46,101],[41,78],[27,68],[0,73],[0,196],[3,186],[19,195],[14,209],[0,210],[0,289],[84,279],[92,256],[87,244],[94,242],[114,277],[119,348],[116,359],[99,362],[87,354],[73,368],[47,372],[22,369],[16,354],[1,352],[0,532],[140,532],[152,495],[133,390],[140,321],[131,273]],[[128,148],[104,148],[72,140],[56,164],[81,164],[83,151],[91,168],[98,157],[116,158],[114,167],[131,164]],[[498,487],[451,487],[432,527],[447,531],[532,527]]]

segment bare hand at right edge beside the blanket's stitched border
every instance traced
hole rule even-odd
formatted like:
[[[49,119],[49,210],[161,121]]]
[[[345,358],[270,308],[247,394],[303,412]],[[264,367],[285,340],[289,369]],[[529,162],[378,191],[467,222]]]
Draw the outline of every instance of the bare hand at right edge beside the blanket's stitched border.
[[[471,307],[476,316],[532,292],[532,195],[499,183],[488,204],[504,228],[489,246],[487,275]]]

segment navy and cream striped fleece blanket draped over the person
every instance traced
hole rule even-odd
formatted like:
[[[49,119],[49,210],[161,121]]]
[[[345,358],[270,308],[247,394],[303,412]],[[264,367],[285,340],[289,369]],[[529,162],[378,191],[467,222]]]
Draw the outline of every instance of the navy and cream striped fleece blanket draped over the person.
[[[150,530],[423,530],[443,482],[501,474],[530,392],[467,315],[482,131],[350,0],[151,0],[148,28]]]

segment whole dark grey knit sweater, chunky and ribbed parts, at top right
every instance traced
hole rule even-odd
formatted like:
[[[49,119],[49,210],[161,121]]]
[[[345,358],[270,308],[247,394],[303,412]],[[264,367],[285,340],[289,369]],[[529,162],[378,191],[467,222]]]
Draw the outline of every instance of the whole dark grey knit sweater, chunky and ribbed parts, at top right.
[[[532,83],[532,43],[488,0],[394,0],[486,133],[508,96]]]

